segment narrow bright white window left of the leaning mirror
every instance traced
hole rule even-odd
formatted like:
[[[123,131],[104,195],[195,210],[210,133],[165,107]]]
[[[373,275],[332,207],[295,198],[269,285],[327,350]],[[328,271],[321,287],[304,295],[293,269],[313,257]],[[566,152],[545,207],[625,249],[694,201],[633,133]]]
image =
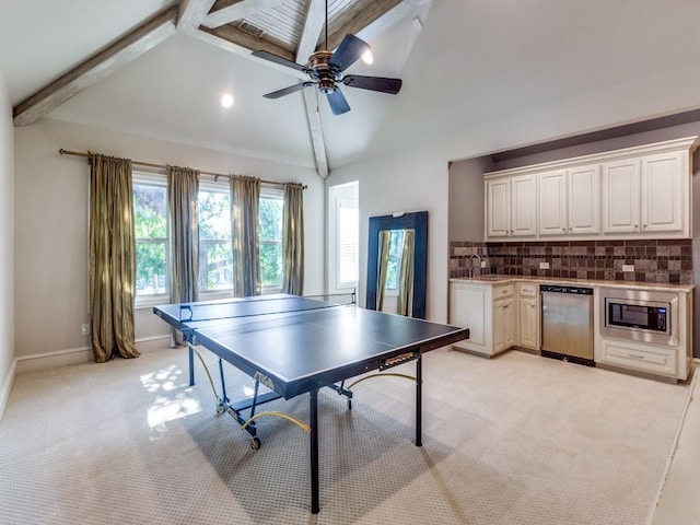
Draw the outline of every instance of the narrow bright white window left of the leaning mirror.
[[[358,201],[338,198],[336,206],[338,288],[357,287],[360,235]]]

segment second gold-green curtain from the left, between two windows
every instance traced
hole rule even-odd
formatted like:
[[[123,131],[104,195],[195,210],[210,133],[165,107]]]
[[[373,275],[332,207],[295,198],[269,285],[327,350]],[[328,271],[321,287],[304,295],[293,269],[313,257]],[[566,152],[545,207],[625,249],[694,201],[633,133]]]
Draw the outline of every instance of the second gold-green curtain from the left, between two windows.
[[[199,299],[199,171],[167,166],[171,225],[171,302]]]

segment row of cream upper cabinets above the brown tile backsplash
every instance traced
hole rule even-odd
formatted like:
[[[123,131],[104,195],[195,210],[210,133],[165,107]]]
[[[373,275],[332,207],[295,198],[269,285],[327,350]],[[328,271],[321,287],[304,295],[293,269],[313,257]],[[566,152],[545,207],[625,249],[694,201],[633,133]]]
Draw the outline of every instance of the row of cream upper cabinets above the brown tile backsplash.
[[[690,238],[697,137],[485,175],[486,240]]]

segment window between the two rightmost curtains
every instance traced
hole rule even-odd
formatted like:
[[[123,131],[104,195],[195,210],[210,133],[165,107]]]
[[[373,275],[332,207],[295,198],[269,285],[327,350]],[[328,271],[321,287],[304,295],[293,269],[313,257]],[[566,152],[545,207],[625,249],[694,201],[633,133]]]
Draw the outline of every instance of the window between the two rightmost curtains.
[[[282,288],[282,209],[284,194],[279,189],[261,188],[258,209],[260,238],[260,282],[262,292]]]

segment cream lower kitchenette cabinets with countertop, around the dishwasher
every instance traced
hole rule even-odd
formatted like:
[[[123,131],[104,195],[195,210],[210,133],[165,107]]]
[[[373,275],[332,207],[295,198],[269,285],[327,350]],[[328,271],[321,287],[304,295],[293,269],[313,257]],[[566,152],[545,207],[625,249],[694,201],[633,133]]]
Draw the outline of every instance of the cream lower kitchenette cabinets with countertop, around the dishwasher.
[[[478,355],[493,357],[517,347],[540,352],[541,294],[540,284],[579,285],[594,290],[593,303],[593,362],[596,366],[630,371],[685,381],[691,368],[692,355],[692,285],[639,284],[619,281],[557,280],[546,278],[517,278],[485,276],[475,279],[450,280],[450,324],[469,328],[469,339],[453,348]],[[598,290],[597,292],[595,290]],[[610,292],[614,290],[614,292]],[[620,291],[620,293],[615,292]],[[641,295],[640,295],[641,294]],[[669,304],[664,317],[669,324],[667,340],[635,340],[635,324],[631,331],[615,332],[606,329],[606,296],[663,296]],[[637,301],[637,303],[634,302]],[[639,304],[638,304],[639,303]],[[646,303],[632,300],[629,304]],[[651,304],[651,303],[650,303]],[[657,308],[664,308],[663,304]],[[633,313],[634,308],[630,312]],[[611,311],[610,311],[611,312]],[[626,312],[625,308],[619,311]],[[625,314],[627,315],[627,314]],[[666,322],[664,320],[664,323]],[[649,339],[648,336],[643,336]]]

